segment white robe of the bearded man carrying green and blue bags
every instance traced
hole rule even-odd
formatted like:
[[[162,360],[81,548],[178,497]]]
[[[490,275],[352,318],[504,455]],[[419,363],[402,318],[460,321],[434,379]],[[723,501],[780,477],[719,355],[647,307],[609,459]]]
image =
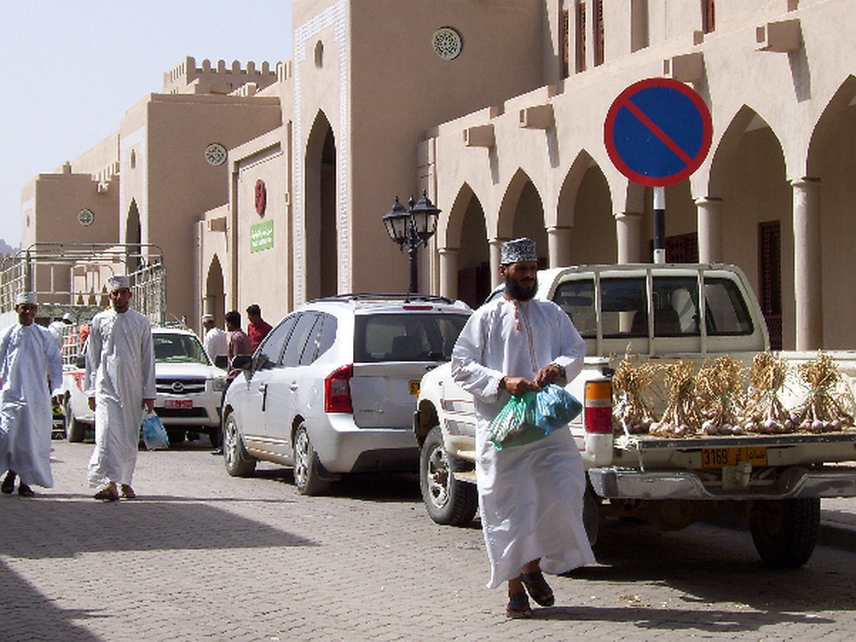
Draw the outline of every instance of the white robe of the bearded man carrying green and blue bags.
[[[503,376],[534,379],[555,363],[568,381],[580,374],[586,343],[568,315],[550,301],[504,298],[481,306],[467,321],[452,353],[455,381],[473,395],[476,474],[484,544],[490,559],[488,587],[516,578],[541,559],[545,573],[560,574],[595,562],[583,526],[586,476],[569,430],[524,446],[496,450],[490,421],[508,401]],[[520,324],[520,330],[517,324]]]

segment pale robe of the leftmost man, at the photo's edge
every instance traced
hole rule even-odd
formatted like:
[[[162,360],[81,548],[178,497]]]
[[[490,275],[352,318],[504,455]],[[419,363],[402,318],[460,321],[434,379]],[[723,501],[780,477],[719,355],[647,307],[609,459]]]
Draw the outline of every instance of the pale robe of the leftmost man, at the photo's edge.
[[[62,357],[51,333],[38,324],[5,330],[0,380],[0,472],[52,488],[51,394],[62,394]]]

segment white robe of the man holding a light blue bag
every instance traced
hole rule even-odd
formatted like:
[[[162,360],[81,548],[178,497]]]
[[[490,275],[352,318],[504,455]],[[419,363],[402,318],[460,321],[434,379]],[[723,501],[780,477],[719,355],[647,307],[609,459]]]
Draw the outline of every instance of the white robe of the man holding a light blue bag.
[[[131,484],[137,463],[143,400],[154,399],[152,326],[133,309],[92,318],[86,347],[86,395],[95,397],[95,449],[89,484]]]

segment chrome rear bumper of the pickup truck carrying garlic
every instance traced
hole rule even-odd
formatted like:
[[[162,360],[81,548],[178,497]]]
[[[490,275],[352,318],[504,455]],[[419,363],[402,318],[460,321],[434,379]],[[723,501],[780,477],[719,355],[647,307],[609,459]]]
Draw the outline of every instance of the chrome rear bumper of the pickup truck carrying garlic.
[[[588,471],[598,496],[608,499],[796,499],[856,496],[856,468],[790,467],[775,484],[728,489],[705,486],[692,471],[592,468]]]

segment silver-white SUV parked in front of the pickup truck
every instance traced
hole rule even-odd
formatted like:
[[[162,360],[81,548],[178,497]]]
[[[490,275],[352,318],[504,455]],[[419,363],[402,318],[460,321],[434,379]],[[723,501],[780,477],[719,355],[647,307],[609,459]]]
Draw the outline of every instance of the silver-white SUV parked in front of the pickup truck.
[[[342,473],[418,470],[412,422],[419,381],[449,359],[472,311],[460,301],[405,294],[342,294],[283,318],[223,401],[230,475],[257,460],[294,467],[301,494]]]

